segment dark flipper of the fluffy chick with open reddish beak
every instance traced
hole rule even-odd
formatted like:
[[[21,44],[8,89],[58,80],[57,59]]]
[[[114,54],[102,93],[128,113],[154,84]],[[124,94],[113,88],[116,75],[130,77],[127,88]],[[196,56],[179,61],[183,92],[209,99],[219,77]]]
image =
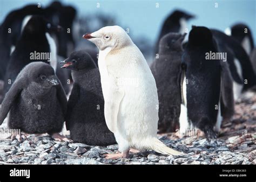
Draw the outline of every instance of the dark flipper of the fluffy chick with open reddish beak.
[[[80,98],[80,89],[77,83],[74,83],[70,97],[69,97],[69,101],[68,101],[68,109],[65,115],[66,130],[70,130],[69,129],[70,116],[72,115],[72,109],[75,108],[78,98]]]

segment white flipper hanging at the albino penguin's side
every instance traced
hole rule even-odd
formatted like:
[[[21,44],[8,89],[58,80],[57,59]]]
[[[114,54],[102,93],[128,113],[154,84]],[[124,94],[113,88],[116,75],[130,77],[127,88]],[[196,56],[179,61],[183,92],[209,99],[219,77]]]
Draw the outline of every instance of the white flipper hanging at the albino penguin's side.
[[[120,102],[122,101],[125,92],[112,85],[109,88],[107,97],[105,97],[104,114],[107,128],[113,133],[117,130],[117,115]]]

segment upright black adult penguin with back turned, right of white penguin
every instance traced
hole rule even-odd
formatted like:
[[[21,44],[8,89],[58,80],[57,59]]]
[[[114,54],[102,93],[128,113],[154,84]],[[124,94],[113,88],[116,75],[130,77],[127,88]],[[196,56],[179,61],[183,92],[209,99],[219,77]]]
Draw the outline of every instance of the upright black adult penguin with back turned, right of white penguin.
[[[206,60],[207,52],[218,52],[212,33],[206,27],[193,27],[185,47],[181,79],[182,102],[180,132],[193,127],[204,131],[206,137],[216,138],[214,126],[220,114],[220,60]]]

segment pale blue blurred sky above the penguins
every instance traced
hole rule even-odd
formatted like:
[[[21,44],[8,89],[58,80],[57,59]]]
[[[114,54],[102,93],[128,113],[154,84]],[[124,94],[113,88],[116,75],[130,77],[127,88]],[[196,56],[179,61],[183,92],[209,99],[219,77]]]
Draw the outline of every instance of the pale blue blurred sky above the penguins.
[[[41,2],[43,6],[49,4],[49,0],[1,0],[0,1],[0,22],[6,14],[13,9],[21,8],[28,3]],[[174,9],[186,10],[197,16],[191,25],[204,25],[219,30],[225,30],[237,22],[244,22],[251,27],[256,40],[256,0],[221,0],[221,1],[85,1],[85,0],[64,0],[65,4],[73,5],[78,10],[78,15],[95,14],[99,12],[114,15],[120,26],[129,27],[131,33],[137,36],[145,36],[154,41],[159,33],[163,20]],[[96,3],[100,3],[97,8]],[[215,8],[215,3],[218,8]],[[159,8],[156,8],[159,3]]]

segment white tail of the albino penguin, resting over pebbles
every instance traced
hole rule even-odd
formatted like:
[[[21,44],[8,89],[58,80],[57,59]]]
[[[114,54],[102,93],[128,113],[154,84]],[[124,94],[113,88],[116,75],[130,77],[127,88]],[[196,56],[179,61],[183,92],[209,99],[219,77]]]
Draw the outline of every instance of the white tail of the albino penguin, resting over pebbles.
[[[147,145],[149,149],[154,150],[158,153],[162,153],[164,155],[174,155],[174,156],[184,156],[185,153],[179,152],[177,150],[173,150],[166,146],[163,142],[159,141],[157,138],[152,138],[149,145]]]

